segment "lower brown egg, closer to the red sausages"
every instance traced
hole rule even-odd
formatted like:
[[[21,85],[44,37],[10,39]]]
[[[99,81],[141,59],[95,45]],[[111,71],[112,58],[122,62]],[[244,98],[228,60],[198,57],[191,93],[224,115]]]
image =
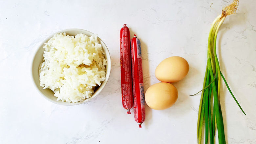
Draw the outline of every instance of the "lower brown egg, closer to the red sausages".
[[[177,98],[177,89],[172,84],[165,82],[150,86],[145,93],[147,105],[155,110],[164,110],[171,107]]]

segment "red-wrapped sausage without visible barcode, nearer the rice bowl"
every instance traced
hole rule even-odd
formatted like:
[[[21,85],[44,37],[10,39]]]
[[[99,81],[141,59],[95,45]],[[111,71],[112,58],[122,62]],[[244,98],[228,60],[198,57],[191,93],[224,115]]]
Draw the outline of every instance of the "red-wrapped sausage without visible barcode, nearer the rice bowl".
[[[133,107],[131,48],[130,31],[126,24],[120,30],[120,65],[122,104],[127,113],[131,114],[130,109]]]

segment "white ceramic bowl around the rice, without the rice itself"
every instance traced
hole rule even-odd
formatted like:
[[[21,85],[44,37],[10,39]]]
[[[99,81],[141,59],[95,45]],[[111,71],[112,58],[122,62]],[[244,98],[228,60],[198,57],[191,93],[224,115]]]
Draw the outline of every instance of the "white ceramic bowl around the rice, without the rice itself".
[[[67,29],[67,30],[62,30],[62,31],[58,31],[56,33],[61,33],[61,32],[66,32],[66,35],[76,35],[79,33],[83,33],[86,34],[87,36],[91,36],[93,35],[92,32],[90,31],[86,31],[86,30],[82,30],[82,29]],[[107,65],[106,65],[106,79],[102,82],[102,84],[95,90],[95,92],[93,93],[92,97],[87,98],[83,101],[77,102],[77,103],[68,103],[68,102],[62,102],[62,101],[57,101],[57,97],[54,96],[53,91],[51,91],[50,89],[44,89],[43,87],[40,86],[40,82],[39,82],[39,73],[38,73],[38,69],[39,69],[39,65],[43,62],[43,51],[44,51],[44,43],[47,43],[50,38],[53,37],[54,34],[50,35],[46,40],[44,40],[42,42],[42,44],[39,46],[38,50],[35,53],[35,56],[33,58],[33,62],[32,62],[32,79],[34,81],[34,84],[37,88],[37,90],[39,91],[39,93],[41,93],[41,95],[46,98],[47,100],[55,103],[55,104],[59,104],[59,105],[78,105],[78,104],[82,104],[82,103],[86,103],[89,100],[95,98],[101,91],[102,89],[106,86],[107,81],[109,79],[109,75],[110,75],[110,70],[111,70],[111,58],[110,58],[110,54],[108,51],[107,46],[104,44],[104,42],[98,37],[98,41],[102,46],[103,51],[105,52],[105,58],[107,59]]]

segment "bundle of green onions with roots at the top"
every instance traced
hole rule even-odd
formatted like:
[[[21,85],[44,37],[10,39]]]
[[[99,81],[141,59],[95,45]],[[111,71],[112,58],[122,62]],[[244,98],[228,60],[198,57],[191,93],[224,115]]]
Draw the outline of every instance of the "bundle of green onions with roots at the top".
[[[216,54],[216,39],[220,26],[225,20],[225,17],[236,12],[238,7],[238,0],[234,0],[229,6],[222,10],[222,14],[217,16],[213,21],[208,38],[207,51],[207,65],[203,81],[203,90],[200,100],[198,123],[197,123],[197,138],[198,143],[202,141],[203,121],[205,122],[205,144],[208,143],[208,136],[210,135],[210,143],[214,144],[215,128],[217,126],[218,140],[220,144],[225,144],[224,124],[222,117],[222,110],[220,104],[220,86],[221,77],[223,78],[227,89],[235,99],[237,105],[245,114],[221,73],[220,64]],[[213,102],[211,102],[211,95],[213,95]],[[213,107],[211,108],[211,104]],[[245,114],[246,115],[246,114]]]

